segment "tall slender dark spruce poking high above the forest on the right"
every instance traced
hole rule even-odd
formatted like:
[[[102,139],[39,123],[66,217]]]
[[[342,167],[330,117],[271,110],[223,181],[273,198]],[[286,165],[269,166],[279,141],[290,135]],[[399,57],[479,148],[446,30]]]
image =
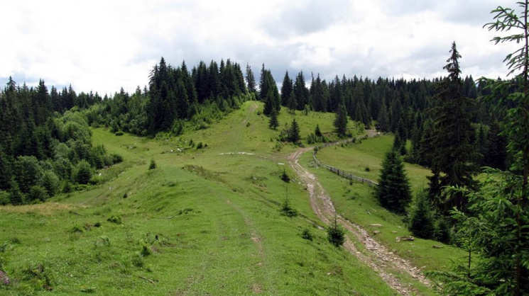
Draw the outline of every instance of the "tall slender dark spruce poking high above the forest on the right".
[[[452,42],[451,55],[447,59],[448,64],[443,67],[448,72],[447,78],[443,79],[437,95],[433,98],[433,106],[430,115],[434,123],[432,137],[427,139],[432,146],[432,173],[440,178],[438,184],[433,184],[430,178],[431,198],[443,196],[446,200],[440,209],[447,212],[452,207],[464,209],[467,200],[461,195],[452,195],[445,198],[437,188],[444,186],[469,186],[476,187],[473,176],[476,175],[478,154],[476,147],[471,144],[474,129],[470,124],[468,110],[472,105],[469,98],[464,97],[463,84],[459,74],[459,52],[456,43]],[[441,174],[442,173],[442,174]],[[434,189],[435,190],[432,190]],[[435,195],[435,196],[433,196]]]

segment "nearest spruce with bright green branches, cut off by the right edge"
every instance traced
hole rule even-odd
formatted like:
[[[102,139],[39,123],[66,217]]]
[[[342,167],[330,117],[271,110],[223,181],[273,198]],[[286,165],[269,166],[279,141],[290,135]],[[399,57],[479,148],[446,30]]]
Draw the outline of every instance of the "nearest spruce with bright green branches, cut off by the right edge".
[[[479,191],[468,188],[449,189],[453,195],[469,200],[469,211],[455,210],[458,233],[467,238],[466,249],[475,250],[478,260],[457,266],[449,273],[432,273],[450,295],[529,295],[529,5],[518,2],[521,16],[511,8],[491,11],[494,21],[489,30],[513,35],[496,37],[498,42],[516,42],[518,50],[504,60],[516,74],[510,80],[479,79],[486,85],[484,101],[506,106],[503,131],[508,152],[516,155],[511,169],[516,172],[489,169]],[[519,174],[518,174],[519,173]]]

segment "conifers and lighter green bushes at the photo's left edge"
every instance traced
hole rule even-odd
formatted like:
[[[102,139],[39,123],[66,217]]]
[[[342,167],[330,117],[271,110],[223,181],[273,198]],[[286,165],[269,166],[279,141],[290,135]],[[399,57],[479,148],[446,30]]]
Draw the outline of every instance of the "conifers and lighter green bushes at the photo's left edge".
[[[77,95],[71,86],[48,91],[42,80],[33,88],[9,79],[0,91],[0,204],[45,201],[121,161],[92,146],[87,120],[77,112],[98,101],[97,93]]]

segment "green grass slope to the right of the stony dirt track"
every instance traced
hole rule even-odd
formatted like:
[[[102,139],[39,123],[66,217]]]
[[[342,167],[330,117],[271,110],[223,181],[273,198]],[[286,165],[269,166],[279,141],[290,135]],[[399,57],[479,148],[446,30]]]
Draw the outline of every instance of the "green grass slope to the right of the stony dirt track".
[[[364,140],[361,144],[351,144],[345,147],[327,147],[317,153],[318,159],[327,164],[338,166],[349,173],[371,178],[376,181],[383,154],[391,147],[393,140],[390,136],[383,136]],[[366,228],[373,237],[391,251],[408,258],[415,266],[430,270],[448,270],[451,260],[464,258],[462,250],[453,246],[443,245],[437,241],[415,238],[415,241],[396,241],[396,237],[410,236],[410,232],[403,222],[403,217],[395,215],[378,204],[369,186],[361,183],[350,183],[327,169],[312,166],[312,154],[303,154],[300,164],[310,166],[309,170],[318,177],[326,192],[332,198],[337,212],[351,222]],[[365,171],[369,166],[371,170]],[[418,166],[406,164],[406,170],[414,190],[418,190],[421,181],[429,171]],[[371,224],[382,224],[383,227],[372,227]],[[374,234],[378,230],[380,233]],[[434,249],[433,246],[442,246]]]

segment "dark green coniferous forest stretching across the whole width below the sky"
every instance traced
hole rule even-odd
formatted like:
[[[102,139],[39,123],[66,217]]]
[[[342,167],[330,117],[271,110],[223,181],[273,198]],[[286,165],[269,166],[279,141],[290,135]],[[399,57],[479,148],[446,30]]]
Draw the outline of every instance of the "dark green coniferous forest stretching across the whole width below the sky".
[[[10,79],[0,91],[0,205],[43,203],[108,181],[97,169],[124,160],[92,144],[92,128],[165,139],[207,130],[245,101],[263,102],[268,126],[278,114],[335,113],[334,134],[347,138],[347,120],[394,135],[378,187],[381,206],[403,217],[416,237],[435,239],[480,260],[429,276],[450,295],[529,293],[529,30],[508,8],[497,8],[489,30],[520,35],[508,55],[508,79],[477,79],[462,73],[457,43],[447,45],[446,76],[430,79],[342,77],[285,72],[273,77],[231,59],[189,66],[153,65],[147,85],[112,96],[56,89],[40,80],[27,86]],[[525,25],[525,27],[524,27]],[[517,34],[517,33],[513,33]],[[45,74],[43,74],[45,76]],[[292,78],[291,78],[292,77]],[[277,131],[278,142],[301,144],[298,122]],[[268,141],[268,139],[264,139]],[[326,142],[317,126],[309,144]],[[202,144],[202,143],[201,143]],[[427,186],[410,193],[403,162],[430,169]],[[155,164],[156,168],[156,164]],[[115,177],[115,176],[114,176]],[[113,177],[112,177],[113,178]],[[414,200],[414,202],[412,202]],[[336,224],[336,218],[335,218]],[[158,239],[158,237],[156,238]]]

